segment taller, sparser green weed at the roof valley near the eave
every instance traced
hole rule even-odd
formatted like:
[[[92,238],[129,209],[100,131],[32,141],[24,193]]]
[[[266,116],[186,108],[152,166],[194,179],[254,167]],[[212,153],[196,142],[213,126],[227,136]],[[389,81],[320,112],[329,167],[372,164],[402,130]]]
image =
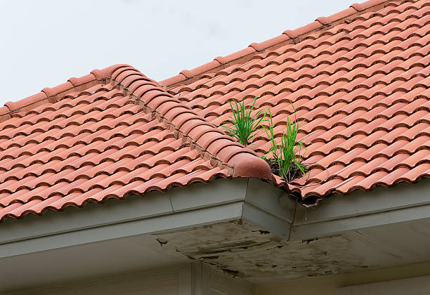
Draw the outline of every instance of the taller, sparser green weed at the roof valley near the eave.
[[[292,104],[291,104],[292,105]],[[281,142],[278,143],[275,140],[275,134],[273,132],[273,119],[271,110],[268,110],[268,129],[263,126],[264,131],[271,143],[271,149],[262,158],[268,162],[274,173],[277,173],[280,177],[285,178],[287,181],[291,181],[297,176],[301,176],[306,173],[306,166],[302,164],[301,151],[305,150],[303,143],[297,141],[297,133],[299,132],[300,123],[297,122],[297,114],[294,110],[294,121],[290,121],[287,118],[287,129],[282,131]],[[272,159],[268,159],[267,156],[272,155]]]

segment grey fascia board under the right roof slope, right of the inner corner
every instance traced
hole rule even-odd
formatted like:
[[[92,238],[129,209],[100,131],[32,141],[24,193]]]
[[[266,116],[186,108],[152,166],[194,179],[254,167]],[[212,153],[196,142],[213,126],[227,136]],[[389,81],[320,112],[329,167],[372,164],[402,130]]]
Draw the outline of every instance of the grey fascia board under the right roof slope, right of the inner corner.
[[[430,179],[334,195],[315,207],[297,206],[290,239],[308,240],[424,218],[430,218]]]

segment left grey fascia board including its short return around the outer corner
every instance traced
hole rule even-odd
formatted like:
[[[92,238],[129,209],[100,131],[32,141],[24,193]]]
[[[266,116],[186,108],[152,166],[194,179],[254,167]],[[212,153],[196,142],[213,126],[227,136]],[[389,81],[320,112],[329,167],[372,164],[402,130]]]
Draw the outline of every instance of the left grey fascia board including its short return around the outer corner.
[[[0,224],[0,258],[240,219],[288,237],[295,208],[285,203],[285,192],[268,183],[234,178],[11,218]]]

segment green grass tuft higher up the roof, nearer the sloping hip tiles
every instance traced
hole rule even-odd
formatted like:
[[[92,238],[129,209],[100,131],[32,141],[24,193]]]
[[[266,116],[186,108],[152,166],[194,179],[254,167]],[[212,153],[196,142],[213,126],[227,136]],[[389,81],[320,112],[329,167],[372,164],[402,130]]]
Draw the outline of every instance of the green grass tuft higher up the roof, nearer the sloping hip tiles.
[[[226,129],[226,133],[229,136],[236,138],[239,143],[245,146],[254,138],[256,133],[261,131],[261,121],[266,117],[266,112],[261,115],[261,110],[256,112],[254,116],[251,115],[252,110],[254,110],[256,99],[257,97],[254,98],[252,105],[248,108],[245,105],[245,100],[242,100],[240,103],[234,100],[234,105],[230,101],[233,117],[230,117],[230,119],[221,124],[221,126]],[[231,123],[232,126],[226,126],[228,123]]]

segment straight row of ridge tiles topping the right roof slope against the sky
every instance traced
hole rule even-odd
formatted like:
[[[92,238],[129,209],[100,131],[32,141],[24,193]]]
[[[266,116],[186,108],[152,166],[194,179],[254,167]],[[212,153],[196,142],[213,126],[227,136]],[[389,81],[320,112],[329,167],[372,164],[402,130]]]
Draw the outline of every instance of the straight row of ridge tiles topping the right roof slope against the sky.
[[[314,22],[311,22],[304,27],[299,27],[294,30],[286,30],[279,36],[273,37],[272,39],[268,39],[261,43],[254,42],[249,44],[247,48],[244,48],[241,51],[237,51],[226,56],[219,56],[214,58],[214,60],[209,63],[195,67],[193,70],[182,70],[174,77],[159,81],[159,84],[162,87],[172,88],[184,82],[191,83],[195,79],[198,79],[198,77],[202,74],[206,74],[207,72],[216,69],[221,70],[224,67],[231,65],[231,63],[245,63],[256,53],[261,53],[261,51],[264,51],[267,48],[276,49],[285,44],[297,44],[299,41],[304,39],[304,36],[307,34],[321,32],[323,29],[330,29],[330,27],[332,27],[333,23],[335,22],[343,22],[348,20],[347,18],[351,18],[354,15],[360,15],[368,11],[376,11],[382,8],[384,4],[389,4],[393,1],[400,0],[368,0],[362,4],[351,4],[349,8],[346,8],[343,11],[339,11],[338,13],[334,13],[333,15],[327,17],[319,17]]]

